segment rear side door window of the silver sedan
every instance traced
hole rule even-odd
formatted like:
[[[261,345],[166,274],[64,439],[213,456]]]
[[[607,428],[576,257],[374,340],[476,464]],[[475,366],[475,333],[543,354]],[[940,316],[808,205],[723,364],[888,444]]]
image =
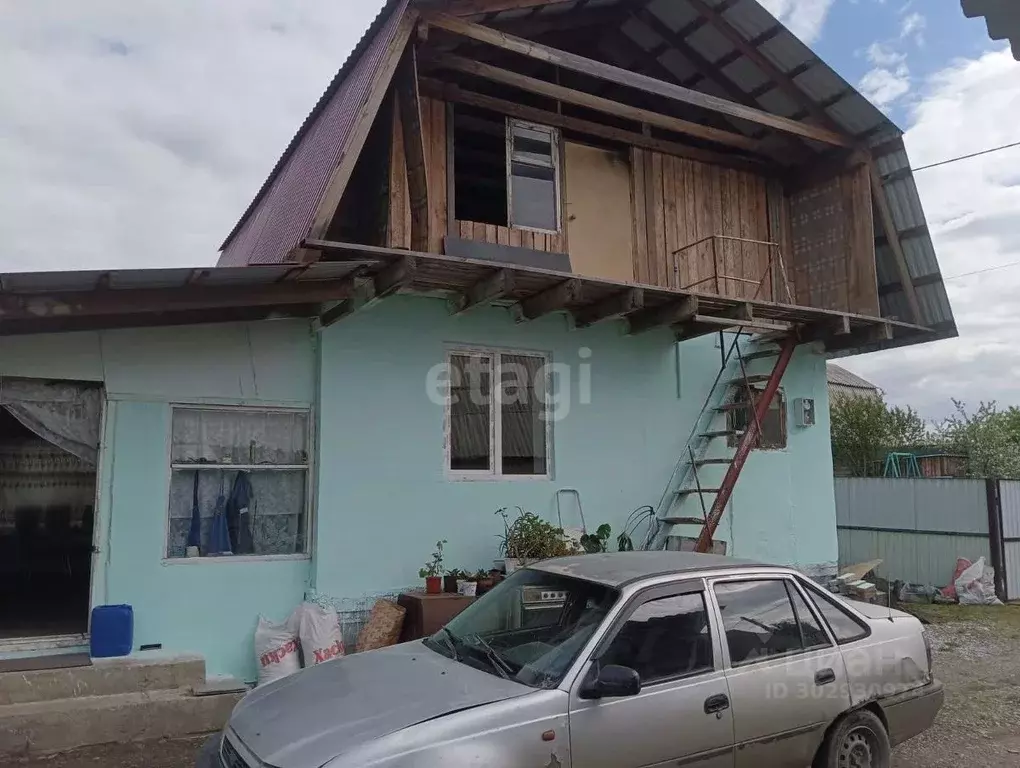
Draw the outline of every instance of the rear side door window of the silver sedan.
[[[829,645],[804,601],[795,608],[787,588],[782,579],[715,585],[730,664],[749,664]],[[800,598],[796,592],[794,597]]]

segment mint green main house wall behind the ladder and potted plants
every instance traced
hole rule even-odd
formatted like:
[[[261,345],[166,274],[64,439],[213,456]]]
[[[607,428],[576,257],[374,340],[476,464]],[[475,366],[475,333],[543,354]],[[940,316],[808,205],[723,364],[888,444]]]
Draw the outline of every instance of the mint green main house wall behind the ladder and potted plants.
[[[570,365],[574,402],[553,425],[551,480],[446,477],[443,407],[430,402],[426,376],[457,344],[543,351]],[[718,371],[716,337],[681,345],[679,366],[675,350],[668,330],[633,338],[614,323],[569,330],[557,316],[516,324],[498,308],[452,317],[441,301],[409,297],[325,329],[317,588],[356,598],[417,583],[439,539],[449,541],[448,567],[488,565],[501,530],[495,511],[519,505],[555,520],[558,489],[580,492],[590,526],[610,522],[618,531],[633,509],[658,502]],[[588,405],[576,402],[581,362],[591,364]],[[815,398],[819,422],[790,421],[787,450],[752,455],[719,536],[740,556],[834,564],[824,360],[800,351],[784,392],[790,402]],[[577,524],[572,502],[565,499],[564,510],[564,525]]]

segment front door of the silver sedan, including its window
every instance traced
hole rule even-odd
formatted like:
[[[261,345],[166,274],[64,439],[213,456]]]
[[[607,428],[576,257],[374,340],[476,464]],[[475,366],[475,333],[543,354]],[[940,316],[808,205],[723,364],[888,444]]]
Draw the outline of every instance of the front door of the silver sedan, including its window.
[[[721,650],[703,581],[634,596],[571,686],[572,764],[732,768],[733,720]],[[585,681],[610,664],[635,670],[641,693],[583,698]]]

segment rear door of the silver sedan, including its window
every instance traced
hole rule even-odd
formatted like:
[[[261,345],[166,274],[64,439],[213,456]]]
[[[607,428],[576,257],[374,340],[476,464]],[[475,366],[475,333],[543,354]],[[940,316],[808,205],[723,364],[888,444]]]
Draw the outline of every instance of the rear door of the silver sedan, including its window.
[[[714,579],[725,632],[736,768],[804,768],[850,706],[832,637],[794,579]]]

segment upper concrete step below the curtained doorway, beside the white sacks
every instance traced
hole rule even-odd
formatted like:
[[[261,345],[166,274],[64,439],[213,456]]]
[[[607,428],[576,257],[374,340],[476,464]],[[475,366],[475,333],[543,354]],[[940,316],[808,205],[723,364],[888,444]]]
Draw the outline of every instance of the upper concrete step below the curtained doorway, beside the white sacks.
[[[201,656],[96,659],[91,667],[0,673],[0,706],[205,685]]]

